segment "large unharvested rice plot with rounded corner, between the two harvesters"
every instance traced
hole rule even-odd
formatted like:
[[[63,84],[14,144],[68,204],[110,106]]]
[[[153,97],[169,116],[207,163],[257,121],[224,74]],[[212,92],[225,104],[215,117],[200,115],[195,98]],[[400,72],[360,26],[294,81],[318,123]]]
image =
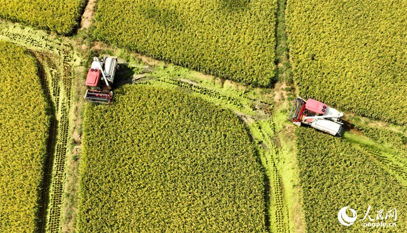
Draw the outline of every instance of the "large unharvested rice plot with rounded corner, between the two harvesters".
[[[264,174],[237,116],[125,85],[86,106],[79,232],[265,232]]]

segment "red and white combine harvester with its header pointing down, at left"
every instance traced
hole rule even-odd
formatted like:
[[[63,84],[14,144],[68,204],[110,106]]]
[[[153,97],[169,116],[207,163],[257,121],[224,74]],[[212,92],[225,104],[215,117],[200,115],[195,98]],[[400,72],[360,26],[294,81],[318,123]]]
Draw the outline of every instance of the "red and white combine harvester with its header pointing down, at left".
[[[112,101],[111,85],[117,68],[118,59],[115,57],[104,56],[101,61],[96,56],[93,58],[85,81],[88,88],[85,93],[86,102],[109,104]]]

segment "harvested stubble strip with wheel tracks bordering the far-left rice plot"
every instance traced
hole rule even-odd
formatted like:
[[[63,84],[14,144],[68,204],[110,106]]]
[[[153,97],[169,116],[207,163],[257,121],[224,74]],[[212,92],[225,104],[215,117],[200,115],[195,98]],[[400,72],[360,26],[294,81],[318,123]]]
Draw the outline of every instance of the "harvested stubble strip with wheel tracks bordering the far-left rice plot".
[[[59,232],[62,193],[65,182],[65,160],[71,107],[72,49],[67,44],[45,39],[45,33],[31,28],[0,23],[0,39],[27,48],[36,57],[46,98],[52,102],[50,138],[44,167],[43,191],[39,209],[38,228],[42,232]]]

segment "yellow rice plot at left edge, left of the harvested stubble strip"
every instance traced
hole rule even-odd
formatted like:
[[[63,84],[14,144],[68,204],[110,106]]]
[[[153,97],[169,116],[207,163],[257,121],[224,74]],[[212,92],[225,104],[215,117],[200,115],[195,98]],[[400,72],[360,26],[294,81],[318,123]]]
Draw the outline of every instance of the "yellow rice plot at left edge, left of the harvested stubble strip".
[[[0,231],[36,232],[49,116],[37,63],[0,41]]]

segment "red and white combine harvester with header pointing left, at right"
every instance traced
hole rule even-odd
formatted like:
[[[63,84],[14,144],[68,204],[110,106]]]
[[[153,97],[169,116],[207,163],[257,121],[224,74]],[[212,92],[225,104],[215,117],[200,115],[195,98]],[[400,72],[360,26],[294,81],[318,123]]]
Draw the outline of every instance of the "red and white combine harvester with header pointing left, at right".
[[[341,116],[343,116],[342,112],[324,103],[313,99],[305,101],[297,97],[289,112],[288,121],[296,126],[304,124],[340,137],[343,132],[343,123],[339,119]]]

